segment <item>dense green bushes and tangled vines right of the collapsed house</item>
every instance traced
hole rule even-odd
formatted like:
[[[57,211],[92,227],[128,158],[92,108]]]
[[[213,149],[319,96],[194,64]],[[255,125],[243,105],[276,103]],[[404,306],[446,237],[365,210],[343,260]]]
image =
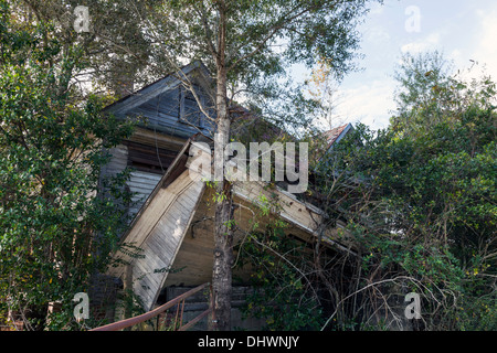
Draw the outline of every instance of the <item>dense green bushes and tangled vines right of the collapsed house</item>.
[[[404,295],[422,295],[425,329],[496,328],[495,84],[448,75],[431,81],[433,72],[402,82],[404,93],[417,94],[401,96],[388,129],[356,127],[320,165],[330,225],[343,221],[342,240],[359,252],[350,264],[355,286],[337,296],[337,306],[367,303],[348,306],[341,327],[361,322],[366,307],[389,302],[404,286]]]

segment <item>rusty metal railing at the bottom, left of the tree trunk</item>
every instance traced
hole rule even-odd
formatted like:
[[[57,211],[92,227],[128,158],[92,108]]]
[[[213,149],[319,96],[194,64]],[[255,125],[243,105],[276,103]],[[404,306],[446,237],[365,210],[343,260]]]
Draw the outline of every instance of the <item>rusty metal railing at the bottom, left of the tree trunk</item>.
[[[133,325],[139,324],[141,322],[148,321],[154,319],[155,317],[158,317],[159,314],[161,314],[162,312],[165,312],[166,310],[172,308],[173,306],[178,306],[177,307],[177,312],[176,312],[176,319],[175,319],[175,330],[177,331],[186,331],[188,329],[190,329],[191,327],[193,327],[197,322],[199,322],[201,319],[203,319],[204,317],[207,317],[209,313],[212,312],[212,306],[209,307],[208,310],[203,311],[202,313],[200,313],[199,315],[197,315],[194,319],[190,320],[188,323],[186,323],[184,325],[182,324],[182,317],[183,317],[183,308],[184,308],[184,300],[191,296],[193,296],[194,293],[201,291],[202,289],[204,289],[205,287],[208,287],[210,284],[203,284],[197,288],[190,289],[189,291],[182,293],[181,296],[168,301],[167,303],[150,310],[146,313],[142,313],[140,315],[134,317],[134,318],[129,318],[129,319],[125,319],[125,320],[120,320],[114,323],[109,323],[99,328],[95,328],[92,329],[89,331],[119,331],[126,328],[130,328]],[[211,296],[212,298],[212,296]],[[179,311],[179,306],[181,304],[181,312]],[[177,321],[178,319],[180,320],[180,324],[179,328],[177,328]]]

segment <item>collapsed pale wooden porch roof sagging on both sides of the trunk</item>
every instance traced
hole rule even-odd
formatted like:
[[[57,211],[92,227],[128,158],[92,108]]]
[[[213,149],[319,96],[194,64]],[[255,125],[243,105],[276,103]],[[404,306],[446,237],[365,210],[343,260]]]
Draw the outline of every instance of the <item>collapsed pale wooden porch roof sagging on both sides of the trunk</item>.
[[[186,143],[160,181],[135,173],[139,181],[135,190],[144,195],[151,192],[151,196],[139,210],[123,240],[139,252],[118,252],[115,258],[129,265],[113,268],[108,275],[121,277],[126,284],[130,284],[134,292],[142,300],[145,310],[152,308],[166,287],[199,286],[212,279],[215,201],[213,190],[202,181],[201,171],[188,169],[193,158],[187,159],[187,156],[198,156],[198,152],[209,156],[211,150],[204,150],[195,142]],[[150,183],[144,186],[142,181],[147,178]],[[154,183],[157,186],[152,190]],[[261,217],[256,205],[261,195],[267,199],[276,196],[281,208]],[[285,228],[288,236],[310,244],[316,240],[316,236],[322,236],[324,244],[339,246],[327,234],[318,232],[322,212],[292,194],[278,189],[266,190],[263,183],[244,182],[235,183],[233,196],[234,221],[237,225],[235,243],[243,242],[255,223],[258,231],[264,231],[277,217],[288,223]],[[251,269],[236,269],[234,275],[246,280]]]

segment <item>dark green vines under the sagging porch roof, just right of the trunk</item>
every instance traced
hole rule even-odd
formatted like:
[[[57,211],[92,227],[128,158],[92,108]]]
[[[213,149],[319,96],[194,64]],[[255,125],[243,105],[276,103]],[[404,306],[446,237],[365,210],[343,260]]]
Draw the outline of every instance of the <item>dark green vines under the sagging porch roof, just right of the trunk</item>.
[[[250,267],[253,289],[242,312],[264,319],[264,330],[318,330],[324,315],[308,245],[288,236],[284,221],[272,218],[264,229],[258,226],[258,220],[267,220],[279,207],[275,195],[260,197],[253,232],[237,247],[236,265]]]

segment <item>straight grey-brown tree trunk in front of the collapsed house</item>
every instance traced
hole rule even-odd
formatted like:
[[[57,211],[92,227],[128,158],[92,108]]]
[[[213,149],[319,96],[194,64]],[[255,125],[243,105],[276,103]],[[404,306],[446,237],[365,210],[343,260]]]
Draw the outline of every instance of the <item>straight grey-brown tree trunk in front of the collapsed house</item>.
[[[216,133],[214,136],[214,180],[216,182],[214,259],[212,268],[213,319],[211,330],[231,330],[231,292],[233,265],[233,218],[232,185],[224,179],[224,149],[230,141],[230,116],[228,111],[225,66],[225,17],[224,4],[220,3],[220,31],[216,53]],[[212,320],[211,320],[212,321]]]

